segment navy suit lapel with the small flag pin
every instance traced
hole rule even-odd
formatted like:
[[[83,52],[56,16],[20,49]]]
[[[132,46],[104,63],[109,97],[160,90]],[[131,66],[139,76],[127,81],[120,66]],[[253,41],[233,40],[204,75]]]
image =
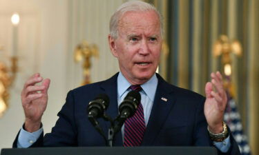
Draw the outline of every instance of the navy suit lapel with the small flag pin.
[[[175,99],[171,95],[173,93],[173,88],[169,83],[166,83],[161,76],[157,74],[158,84],[155,93],[155,100],[151,110],[151,115],[148,120],[148,125],[146,127],[146,132],[144,133],[144,138],[142,145],[152,145],[153,141],[160,132],[164,121],[171,111]]]

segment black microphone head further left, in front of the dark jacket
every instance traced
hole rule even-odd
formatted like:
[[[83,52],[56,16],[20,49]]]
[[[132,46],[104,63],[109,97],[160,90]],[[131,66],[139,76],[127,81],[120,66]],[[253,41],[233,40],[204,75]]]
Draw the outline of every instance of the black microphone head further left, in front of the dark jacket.
[[[104,116],[104,110],[109,105],[109,98],[106,94],[99,94],[93,101],[88,104],[88,116],[99,118]]]

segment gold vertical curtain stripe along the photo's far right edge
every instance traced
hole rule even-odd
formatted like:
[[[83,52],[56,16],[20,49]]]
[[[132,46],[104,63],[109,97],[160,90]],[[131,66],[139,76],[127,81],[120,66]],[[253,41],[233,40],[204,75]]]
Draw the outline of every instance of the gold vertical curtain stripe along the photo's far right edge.
[[[248,27],[248,49],[249,61],[248,61],[248,85],[249,85],[249,141],[253,154],[259,154],[259,104],[258,104],[258,1],[249,1],[249,27]],[[257,14],[256,14],[257,13]]]

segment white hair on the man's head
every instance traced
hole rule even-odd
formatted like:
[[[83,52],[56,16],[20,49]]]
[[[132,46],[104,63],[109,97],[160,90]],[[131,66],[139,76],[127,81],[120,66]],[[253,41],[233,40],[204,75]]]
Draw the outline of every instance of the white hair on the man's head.
[[[144,12],[144,11],[149,11],[153,10],[157,14],[157,16],[160,19],[160,32],[161,35],[163,33],[163,28],[162,28],[162,16],[160,12],[157,11],[157,9],[151,5],[150,3],[146,3],[144,1],[128,1],[126,3],[123,3],[117,10],[114,12],[113,16],[110,19],[110,34],[111,37],[114,39],[117,39],[118,35],[118,23],[119,20],[122,18],[122,16],[126,12],[130,11],[138,11],[138,12]]]

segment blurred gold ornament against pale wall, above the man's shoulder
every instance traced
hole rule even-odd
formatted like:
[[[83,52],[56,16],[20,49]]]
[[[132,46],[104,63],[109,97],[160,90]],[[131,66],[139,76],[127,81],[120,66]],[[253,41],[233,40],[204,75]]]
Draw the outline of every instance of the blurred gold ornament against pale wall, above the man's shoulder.
[[[81,43],[79,43],[79,45],[77,45],[77,47],[75,48],[75,62],[79,62],[84,59],[84,62],[82,64],[82,68],[84,70],[84,80],[81,83],[82,85],[90,83],[90,58],[92,56],[99,58],[99,50],[97,45],[95,44],[89,44],[87,41],[84,40]]]

